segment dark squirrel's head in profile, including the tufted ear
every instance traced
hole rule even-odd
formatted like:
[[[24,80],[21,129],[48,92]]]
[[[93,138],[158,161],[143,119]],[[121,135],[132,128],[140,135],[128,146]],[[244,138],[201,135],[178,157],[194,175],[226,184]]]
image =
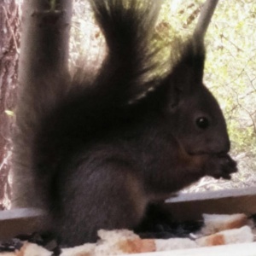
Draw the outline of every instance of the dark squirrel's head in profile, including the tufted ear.
[[[230,139],[218,102],[203,84],[205,50],[189,42],[166,78],[166,113],[189,154],[227,154]]]

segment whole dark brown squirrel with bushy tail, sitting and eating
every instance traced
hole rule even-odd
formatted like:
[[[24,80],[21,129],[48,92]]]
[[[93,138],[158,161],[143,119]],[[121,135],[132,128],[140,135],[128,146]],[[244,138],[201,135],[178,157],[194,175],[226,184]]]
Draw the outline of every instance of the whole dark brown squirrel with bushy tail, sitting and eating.
[[[203,84],[203,44],[191,38],[176,49],[180,57],[168,74],[150,77],[159,2],[90,4],[108,55],[96,77],[73,79],[39,115],[26,145],[39,201],[67,246],[96,241],[99,229],[134,229],[148,203],[206,175],[229,179],[236,172],[223,113]]]

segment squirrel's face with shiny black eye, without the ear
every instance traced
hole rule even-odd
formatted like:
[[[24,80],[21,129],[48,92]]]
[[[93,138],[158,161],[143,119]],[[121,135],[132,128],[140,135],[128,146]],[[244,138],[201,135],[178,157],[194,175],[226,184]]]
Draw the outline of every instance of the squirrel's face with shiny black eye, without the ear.
[[[189,154],[226,154],[230,139],[223,113],[211,92],[201,84],[195,92],[182,95],[171,107],[173,133]],[[175,125],[174,125],[175,124]]]

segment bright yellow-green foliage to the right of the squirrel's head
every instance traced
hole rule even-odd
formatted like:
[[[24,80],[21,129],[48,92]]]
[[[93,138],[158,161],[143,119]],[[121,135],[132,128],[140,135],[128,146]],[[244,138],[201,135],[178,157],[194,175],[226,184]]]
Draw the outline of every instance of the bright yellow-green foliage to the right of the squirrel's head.
[[[254,1],[219,1],[207,33],[206,82],[227,119],[234,153],[256,155]]]

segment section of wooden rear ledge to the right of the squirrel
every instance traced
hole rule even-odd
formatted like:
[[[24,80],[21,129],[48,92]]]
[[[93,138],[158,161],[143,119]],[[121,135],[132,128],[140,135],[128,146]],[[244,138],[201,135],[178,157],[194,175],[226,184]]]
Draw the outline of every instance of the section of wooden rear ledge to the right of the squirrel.
[[[166,201],[165,207],[176,221],[201,219],[202,213],[251,216],[256,213],[256,188],[181,194]]]

